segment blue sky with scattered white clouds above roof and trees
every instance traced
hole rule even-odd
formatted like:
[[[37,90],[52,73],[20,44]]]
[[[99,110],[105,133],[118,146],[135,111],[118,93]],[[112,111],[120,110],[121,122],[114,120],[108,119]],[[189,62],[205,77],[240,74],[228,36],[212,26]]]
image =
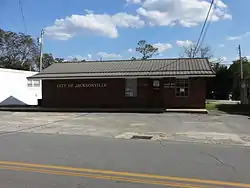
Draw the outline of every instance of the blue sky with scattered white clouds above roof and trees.
[[[138,56],[145,39],[158,57],[179,57],[197,41],[210,0],[22,0],[27,33],[45,28],[44,51],[56,57],[97,60]],[[249,0],[217,0],[204,44],[230,61],[241,44],[250,56]],[[25,32],[18,0],[0,0],[0,27]],[[156,56],[157,57],[157,56]]]

